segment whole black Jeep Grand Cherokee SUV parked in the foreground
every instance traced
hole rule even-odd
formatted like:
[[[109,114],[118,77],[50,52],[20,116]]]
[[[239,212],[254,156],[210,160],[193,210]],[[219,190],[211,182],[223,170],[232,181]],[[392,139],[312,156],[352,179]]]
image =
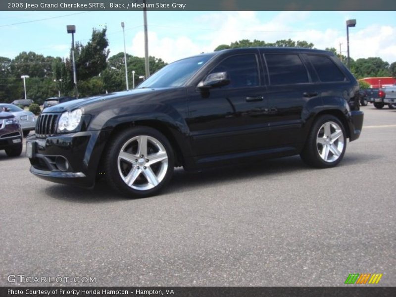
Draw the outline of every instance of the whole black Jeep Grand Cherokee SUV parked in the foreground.
[[[330,52],[248,48],[171,63],[137,89],[46,108],[27,141],[30,171],[130,197],[186,170],[300,154],[333,167],[363,124],[359,87]]]

